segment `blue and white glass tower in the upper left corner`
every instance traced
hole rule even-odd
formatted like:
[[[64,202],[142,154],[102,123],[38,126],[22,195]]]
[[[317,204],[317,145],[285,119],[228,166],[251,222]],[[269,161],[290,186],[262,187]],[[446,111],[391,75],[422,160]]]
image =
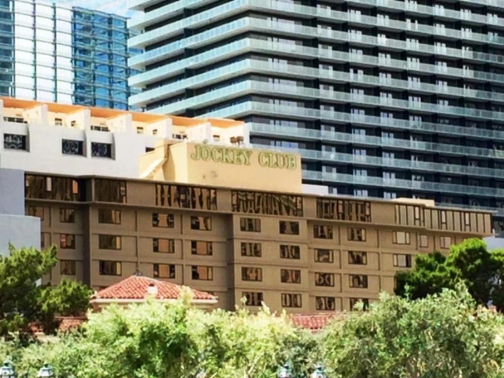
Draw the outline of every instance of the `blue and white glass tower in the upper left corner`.
[[[39,0],[0,1],[0,94],[128,108],[124,17]]]

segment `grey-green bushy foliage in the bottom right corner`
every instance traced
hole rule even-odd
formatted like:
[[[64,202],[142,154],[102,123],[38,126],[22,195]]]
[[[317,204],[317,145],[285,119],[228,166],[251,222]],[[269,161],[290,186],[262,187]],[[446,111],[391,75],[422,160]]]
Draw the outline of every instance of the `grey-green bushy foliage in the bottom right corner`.
[[[382,294],[324,332],[332,378],[497,378],[504,376],[504,320],[462,287],[425,299]]]

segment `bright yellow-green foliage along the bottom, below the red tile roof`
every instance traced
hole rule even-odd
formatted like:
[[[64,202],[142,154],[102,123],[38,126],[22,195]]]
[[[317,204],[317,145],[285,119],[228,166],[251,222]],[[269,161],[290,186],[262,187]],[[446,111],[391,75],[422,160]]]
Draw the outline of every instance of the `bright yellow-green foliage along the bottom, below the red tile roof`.
[[[45,360],[58,376],[76,378],[194,377],[201,371],[206,378],[266,378],[289,361],[295,376],[304,377],[315,346],[309,333],[267,309],[206,312],[184,301],[149,301],[90,313],[79,332],[23,352],[0,343],[0,359],[9,357],[18,372],[30,373]]]

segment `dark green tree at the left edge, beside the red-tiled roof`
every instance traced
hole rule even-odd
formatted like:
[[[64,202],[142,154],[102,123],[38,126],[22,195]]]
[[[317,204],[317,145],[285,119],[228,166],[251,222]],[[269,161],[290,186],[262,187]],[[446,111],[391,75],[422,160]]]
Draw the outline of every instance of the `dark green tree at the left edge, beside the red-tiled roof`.
[[[83,313],[89,305],[91,291],[83,284],[62,280],[57,286],[42,285],[42,277],[56,265],[56,248],[16,249],[0,257],[0,336],[30,333],[36,323],[46,333],[53,332],[57,315]]]

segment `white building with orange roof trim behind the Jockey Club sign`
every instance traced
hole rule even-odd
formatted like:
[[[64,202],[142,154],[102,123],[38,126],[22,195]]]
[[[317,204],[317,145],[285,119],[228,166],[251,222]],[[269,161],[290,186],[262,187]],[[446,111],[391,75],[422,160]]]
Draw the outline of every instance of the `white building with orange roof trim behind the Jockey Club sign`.
[[[0,98],[0,167],[136,178],[140,156],[158,145],[248,144],[241,121],[196,119]]]

